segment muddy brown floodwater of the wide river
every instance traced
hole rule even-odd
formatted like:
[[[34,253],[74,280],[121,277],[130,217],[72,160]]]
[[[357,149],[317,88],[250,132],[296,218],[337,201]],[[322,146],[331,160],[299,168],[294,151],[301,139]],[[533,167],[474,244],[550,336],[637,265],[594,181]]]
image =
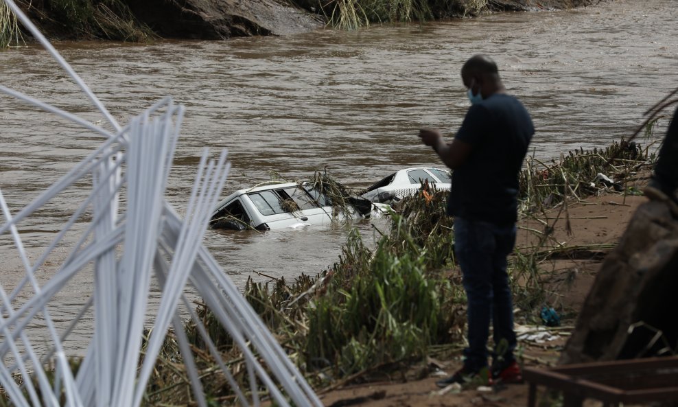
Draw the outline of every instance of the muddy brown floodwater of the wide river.
[[[550,159],[580,146],[607,146],[630,135],[646,108],[678,86],[676,2],[647,4],[618,0],[278,38],[57,48],[122,124],[165,95],[186,106],[168,190],[183,213],[204,147],[213,156],[229,149],[226,193],[267,181],[270,172],[299,180],[327,169],[351,187],[366,187],[401,167],[438,165],[430,148],[419,145],[417,128],[452,133],[459,126],[469,103],[458,72],[476,53],[498,62],[509,92],[533,115],[534,154]],[[0,82],[103,119],[40,47],[0,51]],[[660,121],[659,131],[665,128]],[[12,212],[99,143],[0,95],[0,188]],[[85,184],[69,189],[22,224],[32,259],[85,194]],[[359,228],[371,240],[371,225]],[[257,273],[294,279],[320,272],[338,261],[346,236],[344,228],[208,231],[205,244],[242,287],[248,276],[266,279]],[[22,270],[7,235],[0,237],[0,258],[0,278],[11,288]],[[68,321],[89,295],[91,284],[82,279],[53,304],[56,318]]]

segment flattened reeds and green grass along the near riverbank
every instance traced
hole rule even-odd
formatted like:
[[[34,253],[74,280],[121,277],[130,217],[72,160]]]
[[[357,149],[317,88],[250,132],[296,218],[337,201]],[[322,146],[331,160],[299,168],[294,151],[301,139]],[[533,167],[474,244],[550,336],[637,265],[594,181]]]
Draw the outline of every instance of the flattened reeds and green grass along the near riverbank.
[[[549,305],[552,275],[542,269],[543,262],[583,249],[555,250],[546,244],[554,222],[567,221],[566,202],[600,189],[637,194],[630,186],[616,191],[593,180],[605,173],[619,185],[627,181],[630,185],[652,160],[647,149],[623,142],[576,150],[550,162],[528,158],[520,176],[521,216],[536,216],[558,206],[564,211],[535,231],[538,244],[519,248],[510,257],[511,286],[515,306],[523,310],[521,321],[539,325],[539,310]],[[446,196],[446,191],[425,185],[416,196],[399,202],[388,230],[375,229],[379,239],[373,247],[353,231],[338,262],[316,276],[301,275],[291,282],[250,279],[246,284],[244,296],[318,393],[384,374],[425,376],[429,372],[422,361],[427,356],[450,355],[463,348],[465,293],[454,271],[453,220],[445,216]],[[244,385],[246,369],[237,366],[242,364],[239,350],[204,305],[198,305],[198,314]],[[186,329],[196,338],[196,355],[203,355],[199,336],[191,334],[196,327],[189,323]],[[189,402],[181,398],[189,394],[189,384],[177,376],[175,352],[167,358],[173,361],[172,369],[161,366],[169,362],[159,361],[150,404]],[[205,357],[201,363],[207,394],[214,400],[232,400],[224,379],[211,377],[218,371],[211,369],[216,362]],[[421,367],[413,372],[412,366]],[[180,385],[183,389],[177,388],[178,382],[185,383]]]

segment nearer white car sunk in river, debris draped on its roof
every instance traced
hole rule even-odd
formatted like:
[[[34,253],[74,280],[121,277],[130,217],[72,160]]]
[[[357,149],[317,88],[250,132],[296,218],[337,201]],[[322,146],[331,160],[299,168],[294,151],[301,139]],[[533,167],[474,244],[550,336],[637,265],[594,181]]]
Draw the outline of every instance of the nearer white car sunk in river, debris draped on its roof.
[[[357,196],[346,201],[346,207],[338,208],[309,183],[274,183],[227,196],[215,207],[210,224],[213,229],[268,231],[376,217],[387,207]]]

